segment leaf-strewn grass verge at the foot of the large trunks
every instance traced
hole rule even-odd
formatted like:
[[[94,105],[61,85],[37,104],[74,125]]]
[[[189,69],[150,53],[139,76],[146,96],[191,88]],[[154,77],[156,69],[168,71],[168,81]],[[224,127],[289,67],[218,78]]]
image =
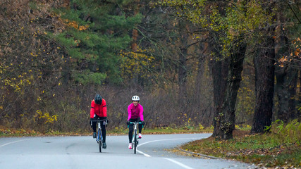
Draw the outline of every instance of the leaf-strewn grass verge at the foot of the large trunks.
[[[295,127],[293,127],[295,126]],[[274,124],[271,132],[250,135],[250,131],[234,130],[233,139],[214,137],[189,142],[181,149],[198,154],[254,163],[263,168],[301,168],[301,125]]]

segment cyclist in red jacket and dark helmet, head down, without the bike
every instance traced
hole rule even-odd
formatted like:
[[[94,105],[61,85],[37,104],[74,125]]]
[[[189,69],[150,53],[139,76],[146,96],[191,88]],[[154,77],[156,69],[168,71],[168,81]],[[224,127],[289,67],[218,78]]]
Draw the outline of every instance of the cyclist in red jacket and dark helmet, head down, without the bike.
[[[108,123],[106,118],[106,101],[102,99],[100,94],[96,94],[94,100],[91,102],[91,110],[90,110],[90,124],[93,128],[93,138],[96,138],[96,125],[97,122],[93,120],[97,120],[97,118],[101,120],[106,120],[106,122],[102,123],[102,138],[103,144],[102,146],[106,149],[106,124]]]

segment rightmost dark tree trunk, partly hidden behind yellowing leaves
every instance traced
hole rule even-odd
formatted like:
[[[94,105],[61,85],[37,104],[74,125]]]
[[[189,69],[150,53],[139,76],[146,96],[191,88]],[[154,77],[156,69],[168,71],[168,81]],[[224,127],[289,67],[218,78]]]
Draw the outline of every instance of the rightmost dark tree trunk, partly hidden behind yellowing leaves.
[[[275,56],[276,60],[289,56],[290,42],[288,37],[285,35],[283,24],[285,23],[285,18],[283,18],[282,13],[278,13],[278,27],[276,32],[278,33],[278,40],[276,41]],[[283,120],[287,123],[289,120],[295,118],[295,93],[297,87],[297,73],[298,70],[293,68],[294,61],[285,63],[284,65],[276,65],[276,87],[275,92],[278,97],[278,108],[276,113],[276,118]]]

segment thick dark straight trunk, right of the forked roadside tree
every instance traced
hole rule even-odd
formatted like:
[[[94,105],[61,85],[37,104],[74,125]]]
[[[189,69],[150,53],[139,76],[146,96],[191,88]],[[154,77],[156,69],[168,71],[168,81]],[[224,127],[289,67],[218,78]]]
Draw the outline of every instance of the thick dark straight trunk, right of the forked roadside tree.
[[[255,94],[256,103],[252,125],[252,133],[264,132],[266,126],[271,125],[274,97],[274,38],[266,31],[266,37],[262,39],[262,47],[254,57],[255,67]]]

